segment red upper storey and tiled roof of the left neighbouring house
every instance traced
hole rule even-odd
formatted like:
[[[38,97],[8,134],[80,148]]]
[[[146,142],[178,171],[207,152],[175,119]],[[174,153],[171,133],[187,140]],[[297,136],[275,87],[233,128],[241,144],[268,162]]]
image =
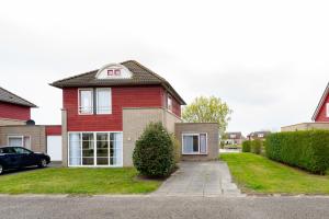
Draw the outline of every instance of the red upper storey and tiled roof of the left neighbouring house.
[[[0,126],[24,125],[31,119],[33,103],[0,88]]]

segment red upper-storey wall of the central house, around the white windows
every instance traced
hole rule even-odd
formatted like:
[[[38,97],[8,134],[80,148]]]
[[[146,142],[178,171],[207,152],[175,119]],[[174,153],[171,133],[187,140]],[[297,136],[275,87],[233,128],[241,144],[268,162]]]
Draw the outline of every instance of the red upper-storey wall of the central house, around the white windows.
[[[64,89],[68,131],[122,130],[123,107],[161,107],[164,106],[162,95],[163,89],[159,85],[113,87],[111,115],[78,115],[78,89]]]

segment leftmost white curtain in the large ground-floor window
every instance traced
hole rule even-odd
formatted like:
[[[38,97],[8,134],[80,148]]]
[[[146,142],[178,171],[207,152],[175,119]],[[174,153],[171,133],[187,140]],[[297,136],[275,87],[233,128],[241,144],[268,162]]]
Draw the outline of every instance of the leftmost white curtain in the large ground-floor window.
[[[80,134],[69,134],[69,164],[81,165]]]

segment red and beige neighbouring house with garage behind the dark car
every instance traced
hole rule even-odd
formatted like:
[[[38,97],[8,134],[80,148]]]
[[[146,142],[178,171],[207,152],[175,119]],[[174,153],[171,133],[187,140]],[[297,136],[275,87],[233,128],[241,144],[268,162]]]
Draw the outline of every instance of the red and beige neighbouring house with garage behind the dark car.
[[[0,147],[24,147],[61,161],[61,126],[35,125],[32,107],[37,106],[0,88]]]

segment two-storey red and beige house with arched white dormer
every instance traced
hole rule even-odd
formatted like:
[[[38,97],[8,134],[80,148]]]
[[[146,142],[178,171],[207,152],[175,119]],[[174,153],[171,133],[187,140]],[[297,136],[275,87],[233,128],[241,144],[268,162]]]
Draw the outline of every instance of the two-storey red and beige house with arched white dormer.
[[[135,141],[146,125],[161,122],[174,132],[185,104],[168,81],[134,60],[110,64],[50,85],[63,89],[65,166],[133,165]],[[178,138],[186,142],[182,154],[208,158],[206,135],[186,127],[180,126],[184,136]]]

